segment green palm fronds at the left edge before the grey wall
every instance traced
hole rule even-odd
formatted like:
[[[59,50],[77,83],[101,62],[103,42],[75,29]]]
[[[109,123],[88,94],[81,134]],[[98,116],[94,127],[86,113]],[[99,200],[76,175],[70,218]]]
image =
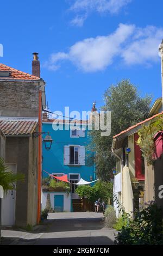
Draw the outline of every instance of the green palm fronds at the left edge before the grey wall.
[[[5,193],[8,190],[13,190],[15,188],[16,181],[23,181],[23,174],[14,174],[9,170],[9,167],[5,165],[4,159],[0,157],[0,185],[3,187]]]

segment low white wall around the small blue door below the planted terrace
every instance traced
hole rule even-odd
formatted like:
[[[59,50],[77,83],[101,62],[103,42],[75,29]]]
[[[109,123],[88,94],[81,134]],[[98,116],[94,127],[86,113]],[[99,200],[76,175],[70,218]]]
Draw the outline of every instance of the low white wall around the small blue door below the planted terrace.
[[[64,211],[71,212],[71,193],[66,192],[42,192],[42,209],[46,208],[47,194],[50,194],[51,206],[54,209],[54,195],[60,194],[64,196]]]

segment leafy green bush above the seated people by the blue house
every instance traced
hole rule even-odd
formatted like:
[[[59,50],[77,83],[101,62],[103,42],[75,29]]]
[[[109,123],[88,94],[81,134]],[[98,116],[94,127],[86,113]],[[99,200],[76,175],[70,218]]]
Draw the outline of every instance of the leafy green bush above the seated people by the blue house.
[[[90,202],[95,202],[98,198],[101,198],[105,203],[108,203],[108,199],[112,199],[112,182],[97,181],[93,187],[88,185],[78,186],[76,193],[79,197],[87,197]]]

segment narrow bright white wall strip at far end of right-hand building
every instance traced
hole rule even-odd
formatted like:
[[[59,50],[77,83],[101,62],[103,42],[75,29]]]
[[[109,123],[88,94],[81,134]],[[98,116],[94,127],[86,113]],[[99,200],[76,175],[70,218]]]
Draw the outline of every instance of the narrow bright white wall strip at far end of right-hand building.
[[[114,177],[114,185],[113,185],[113,193],[115,194],[115,197],[120,200],[120,197],[118,196],[118,192],[121,193],[122,190],[122,177],[121,177],[121,173],[118,173],[117,175],[115,175]],[[120,202],[121,203],[121,202]],[[116,201],[114,202],[114,209],[116,211],[116,217],[118,217],[118,208],[117,208],[118,204],[116,203]]]

